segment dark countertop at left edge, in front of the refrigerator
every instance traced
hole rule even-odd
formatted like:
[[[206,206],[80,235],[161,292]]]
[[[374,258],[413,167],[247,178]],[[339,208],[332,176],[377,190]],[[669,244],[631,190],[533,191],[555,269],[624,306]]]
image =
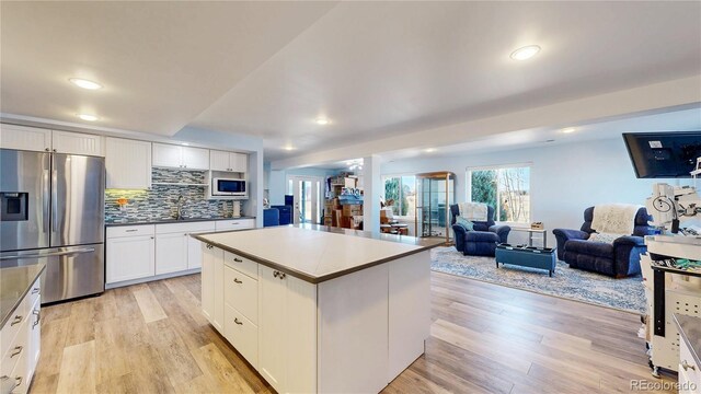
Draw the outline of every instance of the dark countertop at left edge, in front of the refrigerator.
[[[44,269],[45,264],[0,268],[0,327],[4,327]]]

